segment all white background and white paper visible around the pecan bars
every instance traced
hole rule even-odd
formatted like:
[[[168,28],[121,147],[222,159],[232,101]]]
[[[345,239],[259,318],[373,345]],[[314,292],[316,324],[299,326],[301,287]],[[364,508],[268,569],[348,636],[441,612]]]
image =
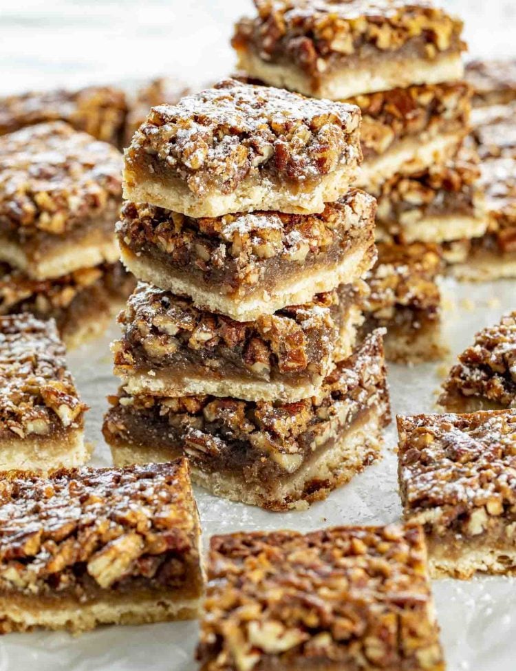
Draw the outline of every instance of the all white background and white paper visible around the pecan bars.
[[[516,53],[516,0],[449,0],[466,21],[471,51],[478,56]],[[247,0],[0,0],[0,94],[57,85],[131,81],[173,74],[199,83],[233,68],[228,39]],[[516,283],[458,286],[445,283],[446,330],[454,353],[473,332],[516,308]],[[72,354],[85,401],[92,406],[87,436],[95,462],[109,463],[100,423],[105,395],[116,389],[107,336]],[[449,362],[450,363],[450,362]],[[438,366],[392,366],[394,412],[432,412],[440,383]],[[205,540],[238,529],[315,529],[325,524],[397,520],[394,427],[383,462],[355,478],[308,512],[279,515],[232,504],[197,491]],[[450,671],[516,670],[516,584],[482,578],[434,583],[442,640]],[[195,623],[104,628],[79,638],[65,633],[9,635],[0,639],[0,671],[193,671]]]

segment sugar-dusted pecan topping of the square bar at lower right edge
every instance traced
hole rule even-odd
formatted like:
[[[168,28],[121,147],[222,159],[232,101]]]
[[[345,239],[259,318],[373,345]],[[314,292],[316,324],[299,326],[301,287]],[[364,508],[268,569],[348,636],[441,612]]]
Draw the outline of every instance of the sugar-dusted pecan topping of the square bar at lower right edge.
[[[398,417],[405,514],[466,536],[516,521],[516,410]]]

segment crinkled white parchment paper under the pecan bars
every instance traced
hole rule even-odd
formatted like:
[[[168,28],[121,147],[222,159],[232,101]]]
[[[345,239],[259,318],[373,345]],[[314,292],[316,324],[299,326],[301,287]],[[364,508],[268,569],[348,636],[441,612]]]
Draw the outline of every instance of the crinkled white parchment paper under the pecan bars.
[[[407,368],[391,365],[389,383],[394,414],[435,411],[442,375],[473,334],[508,310],[516,309],[516,281],[496,284],[443,282],[446,295],[445,337],[451,356],[446,365]],[[85,401],[91,406],[87,439],[94,443],[95,465],[109,465],[109,449],[100,426],[107,408],[105,396],[117,381],[111,374],[109,341],[118,337],[113,326],[103,339],[72,352],[69,366]],[[444,369],[444,370],[443,370]],[[310,530],[334,524],[382,524],[400,517],[396,482],[396,430],[385,432],[383,460],[308,511],[267,513],[218,499],[196,489],[204,544],[214,533],[253,529]],[[481,577],[471,582],[450,579],[433,583],[442,641],[449,671],[516,670],[516,582]],[[195,622],[142,627],[105,627],[72,637],[36,632],[0,639],[0,671],[194,671]]]

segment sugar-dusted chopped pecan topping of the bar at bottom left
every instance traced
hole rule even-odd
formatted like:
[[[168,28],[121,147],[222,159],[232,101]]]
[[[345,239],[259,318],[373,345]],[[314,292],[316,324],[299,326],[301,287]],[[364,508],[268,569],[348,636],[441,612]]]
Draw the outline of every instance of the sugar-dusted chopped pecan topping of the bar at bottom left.
[[[8,471],[0,482],[0,584],[30,595],[138,580],[181,586],[198,566],[198,523],[186,460],[125,469]]]

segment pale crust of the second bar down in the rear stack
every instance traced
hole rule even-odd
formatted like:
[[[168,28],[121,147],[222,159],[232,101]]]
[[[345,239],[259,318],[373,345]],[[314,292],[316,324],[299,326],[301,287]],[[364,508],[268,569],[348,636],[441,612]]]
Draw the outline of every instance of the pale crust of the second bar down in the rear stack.
[[[364,160],[355,186],[373,195],[394,175],[410,175],[434,164],[446,162],[455,155],[463,134],[449,133],[427,138],[402,138],[381,156]]]

